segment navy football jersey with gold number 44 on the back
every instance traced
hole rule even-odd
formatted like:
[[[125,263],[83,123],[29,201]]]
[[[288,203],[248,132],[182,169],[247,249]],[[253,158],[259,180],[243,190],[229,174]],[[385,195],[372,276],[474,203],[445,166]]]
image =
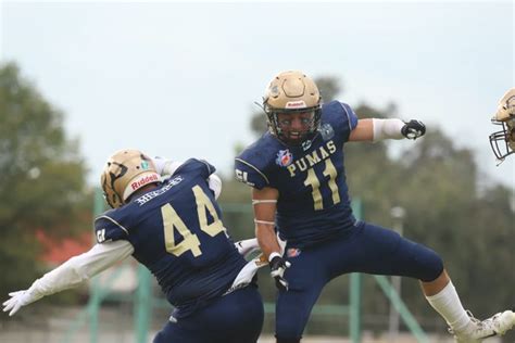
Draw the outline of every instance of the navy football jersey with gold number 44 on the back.
[[[99,243],[127,240],[185,317],[222,295],[246,265],[226,236],[206,179],[215,168],[188,160],[159,188],[95,220]]]

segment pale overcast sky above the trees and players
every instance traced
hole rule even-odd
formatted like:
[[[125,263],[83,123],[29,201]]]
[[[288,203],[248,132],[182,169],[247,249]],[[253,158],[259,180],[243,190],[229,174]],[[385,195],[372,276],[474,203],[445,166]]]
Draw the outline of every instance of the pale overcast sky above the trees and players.
[[[65,113],[92,185],[123,148],[229,176],[252,103],[284,69],[338,77],[351,106],[394,102],[473,149],[485,183],[515,185],[515,156],[495,167],[488,141],[515,85],[513,1],[3,0],[0,22],[0,61]]]

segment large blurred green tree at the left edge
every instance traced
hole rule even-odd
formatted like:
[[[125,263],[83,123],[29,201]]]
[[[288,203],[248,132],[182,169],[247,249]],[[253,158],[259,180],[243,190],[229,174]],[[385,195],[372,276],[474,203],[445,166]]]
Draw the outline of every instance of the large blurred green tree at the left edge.
[[[63,114],[20,75],[0,65],[0,294],[39,276],[36,230],[54,239],[90,226],[86,167],[66,138]]]

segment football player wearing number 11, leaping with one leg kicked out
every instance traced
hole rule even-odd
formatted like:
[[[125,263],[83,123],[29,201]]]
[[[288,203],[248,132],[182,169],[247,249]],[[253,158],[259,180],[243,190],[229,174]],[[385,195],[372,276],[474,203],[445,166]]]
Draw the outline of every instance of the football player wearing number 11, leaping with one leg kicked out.
[[[236,157],[235,169],[252,187],[256,237],[279,290],[277,342],[300,342],[322,289],[349,272],[418,279],[459,342],[480,342],[515,325],[512,310],[473,318],[438,254],[352,214],[343,145],[415,140],[426,131],[423,123],[357,119],[347,103],[323,104],[317,86],[301,72],[274,77],[263,110],[269,130]],[[284,253],[275,230],[286,240]]]

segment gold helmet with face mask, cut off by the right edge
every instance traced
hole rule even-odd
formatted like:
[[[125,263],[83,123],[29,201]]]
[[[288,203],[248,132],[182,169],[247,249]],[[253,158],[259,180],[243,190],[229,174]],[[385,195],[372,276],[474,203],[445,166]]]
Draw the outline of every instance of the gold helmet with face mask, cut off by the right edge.
[[[490,135],[490,145],[495,157],[504,161],[515,152],[515,88],[510,89],[499,101],[492,124],[500,125],[502,129]]]

